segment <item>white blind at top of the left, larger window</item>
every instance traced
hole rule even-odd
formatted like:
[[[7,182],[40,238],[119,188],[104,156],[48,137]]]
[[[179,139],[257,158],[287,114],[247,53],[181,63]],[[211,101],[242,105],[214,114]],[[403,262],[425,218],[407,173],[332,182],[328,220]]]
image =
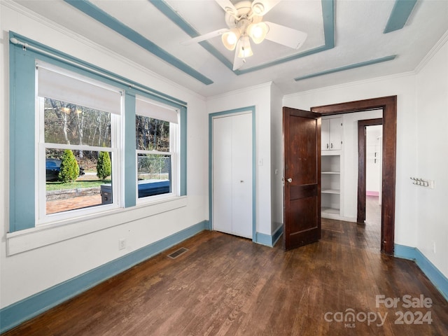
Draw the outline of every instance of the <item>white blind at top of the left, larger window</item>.
[[[38,96],[120,114],[121,92],[116,87],[97,84],[90,78],[71,75],[68,71],[36,64]]]

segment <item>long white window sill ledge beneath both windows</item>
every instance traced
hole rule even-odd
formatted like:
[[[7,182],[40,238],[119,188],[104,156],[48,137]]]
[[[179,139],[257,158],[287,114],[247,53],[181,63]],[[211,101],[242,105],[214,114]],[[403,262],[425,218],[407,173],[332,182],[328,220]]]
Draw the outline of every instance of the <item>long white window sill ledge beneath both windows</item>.
[[[10,232],[6,234],[6,253],[9,256],[31,251],[34,248],[40,248],[58,243],[59,241],[106,230],[117,225],[137,221],[141,218],[186,207],[186,205],[186,196],[173,197],[169,200],[160,200],[160,202],[137,204],[136,207],[127,209],[113,209],[90,216],[71,219],[70,221],[61,221],[27,230]]]

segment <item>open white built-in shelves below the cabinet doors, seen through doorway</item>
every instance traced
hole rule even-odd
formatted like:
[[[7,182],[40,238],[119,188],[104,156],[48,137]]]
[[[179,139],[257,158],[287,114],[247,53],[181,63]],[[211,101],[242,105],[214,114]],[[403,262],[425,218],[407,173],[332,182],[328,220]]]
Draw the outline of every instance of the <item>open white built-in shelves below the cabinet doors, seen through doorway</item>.
[[[341,209],[341,155],[321,156],[321,216],[337,219]]]

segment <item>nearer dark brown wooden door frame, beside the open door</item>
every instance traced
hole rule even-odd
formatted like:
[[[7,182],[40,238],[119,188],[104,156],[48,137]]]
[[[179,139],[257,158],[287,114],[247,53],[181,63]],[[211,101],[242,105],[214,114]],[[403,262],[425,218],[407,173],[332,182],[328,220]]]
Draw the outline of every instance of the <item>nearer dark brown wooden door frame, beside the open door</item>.
[[[397,96],[355,102],[315,106],[312,112],[322,116],[382,109],[383,160],[381,178],[381,251],[393,255],[395,231],[395,158],[397,133]]]

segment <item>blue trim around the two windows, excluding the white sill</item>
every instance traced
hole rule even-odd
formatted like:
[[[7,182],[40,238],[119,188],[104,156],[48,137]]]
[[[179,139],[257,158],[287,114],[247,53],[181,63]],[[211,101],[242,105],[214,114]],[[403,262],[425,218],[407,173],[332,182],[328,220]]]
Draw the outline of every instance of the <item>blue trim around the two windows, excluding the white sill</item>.
[[[10,225],[9,232],[34,228],[36,226],[36,181],[34,167],[36,161],[36,101],[35,101],[35,69],[36,60],[54,64],[63,69],[79,73],[83,76],[100,80],[103,83],[118,87],[125,92],[125,111],[123,113],[124,148],[124,207],[136,205],[135,180],[135,96],[140,94],[155,101],[173,106],[180,111],[181,130],[181,162],[180,162],[180,195],[187,193],[186,186],[186,149],[187,149],[187,104],[167,94],[158,92],[128,80],[127,78],[106,71],[105,69],[84,62],[81,59],[59,52],[46,45],[33,41],[25,36],[9,33],[10,58]],[[11,42],[16,38],[20,43]],[[27,43],[27,47],[23,46]]]

